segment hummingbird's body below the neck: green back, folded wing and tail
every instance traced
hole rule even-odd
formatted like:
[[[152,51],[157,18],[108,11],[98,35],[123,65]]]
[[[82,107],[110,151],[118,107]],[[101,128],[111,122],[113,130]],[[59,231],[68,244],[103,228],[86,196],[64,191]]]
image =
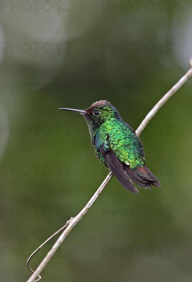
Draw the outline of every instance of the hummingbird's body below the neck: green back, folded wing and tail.
[[[119,182],[135,193],[138,189],[128,176],[143,189],[151,189],[151,185],[159,187],[158,179],[145,165],[142,143],[134,130],[129,125],[121,124],[107,133],[105,130],[97,132],[95,146],[100,152],[100,160],[102,158],[103,162],[104,159],[103,163],[107,164]]]

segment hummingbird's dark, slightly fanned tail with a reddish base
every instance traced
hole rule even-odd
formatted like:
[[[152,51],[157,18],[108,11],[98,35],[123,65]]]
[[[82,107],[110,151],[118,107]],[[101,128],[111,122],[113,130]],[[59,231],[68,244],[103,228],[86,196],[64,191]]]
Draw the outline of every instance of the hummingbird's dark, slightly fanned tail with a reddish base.
[[[151,185],[160,186],[159,180],[155,175],[149,170],[147,166],[137,167],[135,169],[130,169],[129,166],[124,166],[124,170],[131,177],[131,179],[139,185],[141,188],[151,189]]]

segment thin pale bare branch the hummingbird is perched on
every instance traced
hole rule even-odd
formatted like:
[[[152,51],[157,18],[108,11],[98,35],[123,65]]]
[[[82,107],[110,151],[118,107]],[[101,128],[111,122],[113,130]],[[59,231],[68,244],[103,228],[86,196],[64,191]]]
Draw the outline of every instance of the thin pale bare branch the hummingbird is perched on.
[[[190,58],[189,61],[190,69],[183,75],[183,77],[168,91],[160,100],[159,102],[153,107],[153,109],[147,114],[147,116],[143,119],[140,126],[137,128],[136,133],[137,135],[140,135],[142,130],[146,127],[146,125],[149,123],[151,118],[155,115],[155,113],[165,104],[165,102],[179,89],[181,86],[187,82],[187,80],[192,76],[192,58]],[[63,233],[60,235],[60,237],[57,239],[56,243],[53,245],[51,250],[47,253],[47,255],[43,258],[40,265],[37,267],[37,269],[33,272],[33,270],[28,266],[30,271],[33,272],[31,277],[27,280],[27,282],[33,282],[35,278],[38,276],[39,273],[43,270],[43,268],[46,266],[48,261],[53,257],[59,246],[62,244],[63,240],[66,238],[68,233],[76,226],[78,221],[85,215],[85,213],[89,210],[89,208],[92,206],[92,204],[95,202],[95,200],[98,198],[98,196],[101,194],[105,186],[108,184],[109,180],[112,178],[113,174],[110,171],[101,186],[98,188],[98,190],[94,193],[94,195],[90,198],[89,202],[85,205],[85,207],[76,215],[75,217],[71,217],[67,221],[67,226],[65,228],[62,227],[60,230],[58,230],[55,234],[53,234],[49,239],[47,239],[36,251],[38,251],[42,246],[44,246],[47,241],[49,241],[51,238],[53,238],[56,234],[58,234],[62,229],[65,228]],[[36,253],[36,251],[34,253]],[[34,254],[33,253],[33,254]],[[30,256],[28,261],[31,259],[33,254]],[[40,277],[37,279],[39,281]],[[37,281],[36,280],[36,281]]]

